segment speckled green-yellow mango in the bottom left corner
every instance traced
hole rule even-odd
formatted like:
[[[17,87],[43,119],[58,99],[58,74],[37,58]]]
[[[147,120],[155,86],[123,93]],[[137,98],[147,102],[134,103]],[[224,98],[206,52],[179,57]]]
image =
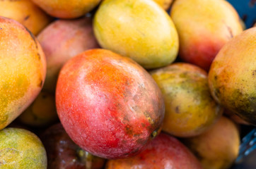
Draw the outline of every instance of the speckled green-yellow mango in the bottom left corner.
[[[1,169],[47,169],[45,147],[32,132],[7,127],[0,130]]]

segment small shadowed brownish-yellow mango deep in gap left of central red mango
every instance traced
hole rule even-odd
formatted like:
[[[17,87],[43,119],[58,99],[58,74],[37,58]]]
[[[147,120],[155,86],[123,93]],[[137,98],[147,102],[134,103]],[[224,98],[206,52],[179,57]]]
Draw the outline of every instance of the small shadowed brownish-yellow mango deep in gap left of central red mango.
[[[52,125],[58,120],[54,94],[40,92],[35,101],[18,117],[18,120],[35,127]]]

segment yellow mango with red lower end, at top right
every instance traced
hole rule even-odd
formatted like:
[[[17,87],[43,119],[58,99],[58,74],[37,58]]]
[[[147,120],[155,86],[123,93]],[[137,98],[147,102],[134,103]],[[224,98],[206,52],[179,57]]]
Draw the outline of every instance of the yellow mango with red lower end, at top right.
[[[206,71],[221,47],[243,32],[228,1],[176,0],[170,16],[180,38],[180,58]]]

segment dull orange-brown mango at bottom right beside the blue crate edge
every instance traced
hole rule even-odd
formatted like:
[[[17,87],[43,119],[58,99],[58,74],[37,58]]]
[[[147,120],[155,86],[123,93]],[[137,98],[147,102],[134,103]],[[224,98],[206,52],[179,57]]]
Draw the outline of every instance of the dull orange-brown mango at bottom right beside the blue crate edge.
[[[197,156],[203,168],[228,169],[238,157],[240,135],[235,123],[223,116],[203,134],[183,142]]]

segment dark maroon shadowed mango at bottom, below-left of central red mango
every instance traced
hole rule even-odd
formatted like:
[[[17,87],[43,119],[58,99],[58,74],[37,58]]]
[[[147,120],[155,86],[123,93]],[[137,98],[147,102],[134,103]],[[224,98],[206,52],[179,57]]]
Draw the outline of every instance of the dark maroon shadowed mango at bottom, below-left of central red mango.
[[[48,169],[102,169],[105,159],[93,156],[76,145],[61,123],[40,135],[47,152]]]

